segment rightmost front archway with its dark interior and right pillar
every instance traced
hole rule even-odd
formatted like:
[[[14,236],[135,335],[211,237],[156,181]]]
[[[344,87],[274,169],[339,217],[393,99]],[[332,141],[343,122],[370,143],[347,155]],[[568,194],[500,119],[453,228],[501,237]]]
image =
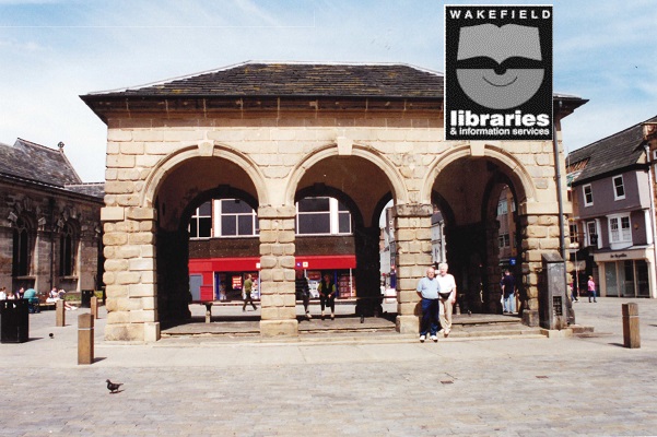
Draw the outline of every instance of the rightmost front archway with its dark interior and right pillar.
[[[465,284],[461,280],[459,284],[459,274],[468,280],[481,277],[479,309],[483,312],[497,312],[500,309],[495,196],[501,185],[511,188],[517,204],[517,259],[521,262],[518,272],[523,275],[518,283],[524,300],[523,317],[528,324],[533,323],[538,309],[537,269],[540,269],[540,262],[536,260],[540,261],[541,251],[558,247],[555,239],[559,236],[559,228],[554,228],[556,192],[554,181],[548,176],[553,168],[543,170],[541,166],[552,166],[552,163],[545,160],[540,165],[535,164],[538,170],[532,172],[545,176],[530,177],[528,166],[520,165],[517,157],[501,145],[468,144],[455,147],[430,172],[430,175],[435,175],[431,191],[445,199],[454,213],[454,223],[446,228],[450,271],[457,277],[457,285],[467,291],[465,298],[468,303],[476,300],[478,287],[472,281]],[[425,185],[427,187],[429,184]],[[545,208],[549,202],[554,205],[554,211]],[[539,229],[539,226],[550,228]],[[555,239],[532,240],[533,235],[553,235]]]

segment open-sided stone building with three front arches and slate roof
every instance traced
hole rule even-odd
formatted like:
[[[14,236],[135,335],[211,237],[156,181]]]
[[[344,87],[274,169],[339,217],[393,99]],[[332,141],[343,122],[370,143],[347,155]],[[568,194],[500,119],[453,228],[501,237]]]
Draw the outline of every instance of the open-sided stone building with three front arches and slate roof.
[[[189,220],[208,199],[222,198],[251,199],[257,208],[251,250],[260,260],[261,334],[296,335],[295,201],[327,192],[350,206],[362,298],[380,293],[378,221],[392,200],[397,329],[417,332],[414,288],[432,262],[434,205],[445,218],[459,294],[478,296],[474,310],[500,310],[495,218],[509,187],[523,318],[538,323],[541,255],[560,250],[553,144],[444,141],[441,73],[247,62],[82,99],[108,129],[106,339],[157,340],[160,320],[188,316]],[[554,99],[559,137],[560,120],[586,101]],[[556,165],[564,175],[561,154]]]

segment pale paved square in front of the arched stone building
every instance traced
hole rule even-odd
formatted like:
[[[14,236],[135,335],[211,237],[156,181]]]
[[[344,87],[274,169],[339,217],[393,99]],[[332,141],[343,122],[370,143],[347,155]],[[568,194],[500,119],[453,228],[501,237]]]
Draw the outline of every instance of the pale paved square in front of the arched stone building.
[[[623,347],[627,302],[641,349]],[[61,328],[45,311],[30,316],[28,342],[0,345],[0,435],[657,435],[657,300],[575,310],[593,334],[437,344],[389,332],[126,344],[103,340],[102,310],[84,366],[85,310]],[[121,391],[109,394],[108,378]]]

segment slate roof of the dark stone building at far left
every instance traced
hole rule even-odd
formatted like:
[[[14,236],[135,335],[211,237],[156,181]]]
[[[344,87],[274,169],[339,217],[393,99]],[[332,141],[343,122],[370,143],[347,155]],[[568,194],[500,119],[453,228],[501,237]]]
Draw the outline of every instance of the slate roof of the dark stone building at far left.
[[[93,197],[104,196],[97,196],[98,189],[95,187],[75,188],[86,184],[82,182],[63,150],[49,149],[20,138],[13,145],[0,143],[0,176]]]

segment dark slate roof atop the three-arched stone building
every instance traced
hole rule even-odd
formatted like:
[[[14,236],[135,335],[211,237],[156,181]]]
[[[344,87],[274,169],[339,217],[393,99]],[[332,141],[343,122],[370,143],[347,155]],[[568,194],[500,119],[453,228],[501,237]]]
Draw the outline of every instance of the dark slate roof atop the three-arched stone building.
[[[90,94],[92,95],[442,98],[443,73],[403,63],[248,61],[159,83]]]

